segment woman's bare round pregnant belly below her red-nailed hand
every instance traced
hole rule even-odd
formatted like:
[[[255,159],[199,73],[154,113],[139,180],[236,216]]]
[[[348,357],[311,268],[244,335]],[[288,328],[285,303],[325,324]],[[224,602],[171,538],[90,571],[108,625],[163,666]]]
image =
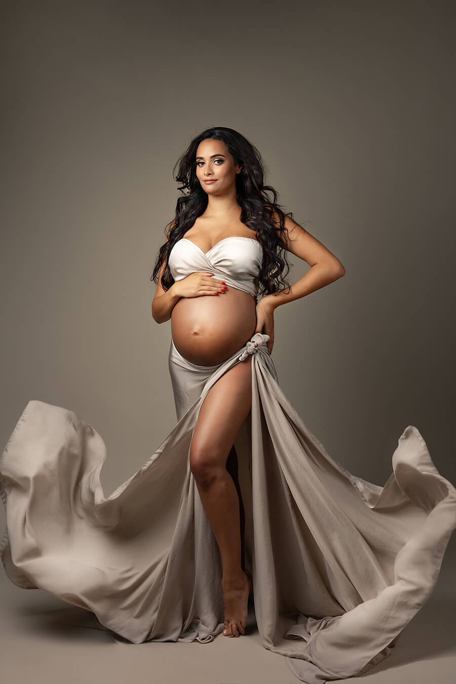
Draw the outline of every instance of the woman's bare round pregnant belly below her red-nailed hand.
[[[181,297],[171,313],[174,345],[190,363],[222,363],[254,334],[255,307],[252,295],[229,285],[218,295]]]

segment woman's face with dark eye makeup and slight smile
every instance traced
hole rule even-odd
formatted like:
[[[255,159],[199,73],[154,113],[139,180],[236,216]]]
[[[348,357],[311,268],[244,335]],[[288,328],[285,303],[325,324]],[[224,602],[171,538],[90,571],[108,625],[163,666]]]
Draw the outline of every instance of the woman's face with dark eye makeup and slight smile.
[[[208,195],[224,194],[236,183],[241,167],[234,164],[222,140],[207,138],[196,150],[196,177]],[[214,181],[206,183],[205,181]]]

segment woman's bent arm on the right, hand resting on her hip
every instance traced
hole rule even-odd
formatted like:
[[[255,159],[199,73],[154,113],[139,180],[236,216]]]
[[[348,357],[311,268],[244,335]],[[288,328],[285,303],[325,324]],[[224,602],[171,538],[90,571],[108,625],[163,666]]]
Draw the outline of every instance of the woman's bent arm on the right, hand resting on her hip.
[[[310,235],[289,216],[285,217],[284,226],[286,228],[284,232],[286,249],[299,259],[306,261],[310,269],[302,278],[290,286],[288,293],[281,290],[265,295],[256,304],[255,332],[263,332],[269,335],[267,342],[269,354],[271,354],[274,344],[274,310],[276,307],[305,297],[345,275],[345,268],[342,263],[316,237]]]

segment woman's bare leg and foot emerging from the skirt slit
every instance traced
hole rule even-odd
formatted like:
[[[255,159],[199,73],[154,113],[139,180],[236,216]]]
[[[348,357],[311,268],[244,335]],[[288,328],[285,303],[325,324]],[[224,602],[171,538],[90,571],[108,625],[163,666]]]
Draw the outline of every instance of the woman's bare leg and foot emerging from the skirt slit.
[[[252,408],[252,357],[230,368],[200,408],[190,445],[190,467],[222,557],[227,636],[245,633],[250,578],[241,567],[239,497],[226,470],[228,453]]]

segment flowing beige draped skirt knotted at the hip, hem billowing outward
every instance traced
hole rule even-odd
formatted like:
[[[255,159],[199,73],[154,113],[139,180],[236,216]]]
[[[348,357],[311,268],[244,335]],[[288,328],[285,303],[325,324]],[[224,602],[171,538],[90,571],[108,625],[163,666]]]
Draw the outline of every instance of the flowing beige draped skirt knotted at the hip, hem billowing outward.
[[[252,354],[252,410],[234,449],[263,646],[308,684],[359,676],[388,656],[438,579],[456,490],[413,425],[384,487],[334,461],[280,389],[268,339],[256,333],[211,367],[171,343],[178,422],[109,497],[98,432],[71,410],[30,401],[0,461],[10,580],[92,611],[135,644],[221,633],[222,564],[189,447],[211,386]]]

